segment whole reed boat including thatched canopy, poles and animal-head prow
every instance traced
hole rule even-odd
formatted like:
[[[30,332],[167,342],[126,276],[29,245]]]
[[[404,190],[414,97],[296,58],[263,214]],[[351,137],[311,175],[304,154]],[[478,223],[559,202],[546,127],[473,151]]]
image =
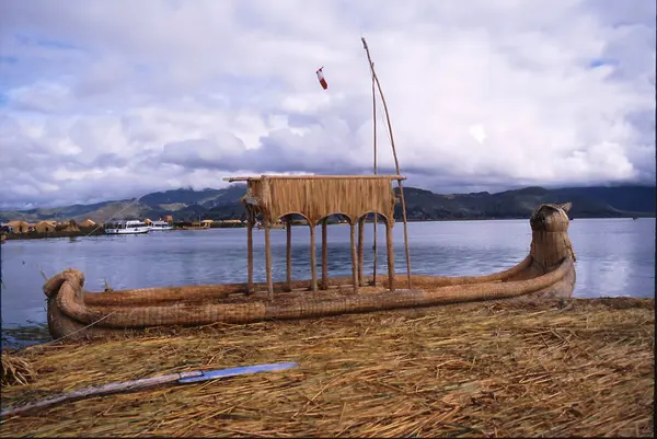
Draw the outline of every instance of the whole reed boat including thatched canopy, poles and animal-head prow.
[[[84,339],[157,326],[200,326],[263,320],[308,319],[344,313],[433,307],[484,300],[568,298],[575,286],[575,254],[568,238],[570,204],[545,204],[530,218],[532,240],[527,257],[500,273],[473,277],[414,276],[406,231],[406,208],[394,137],[385,99],[365,38],[372,77],[374,120],[373,175],[261,175],[226,178],[245,182],[246,282],[88,292],[84,275],[66,269],[44,285],[48,327],[55,338]],[[376,85],[376,86],[374,86]],[[322,85],[324,86],[324,85]],[[396,169],[377,174],[376,89],[383,103]],[[399,198],[392,182],[399,185]],[[406,274],[394,272],[392,228],[401,201]],[[327,218],[341,213],[350,227],[351,276],[328,277]],[[364,273],[364,229],[374,217],[373,272]],[[270,230],[279,220],[301,216],[310,232],[310,279],[291,276],[292,227],[286,228],[286,280],[272,276]],[[383,220],[388,273],[377,275],[377,228]],[[266,282],[253,281],[253,229],[264,229]],[[321,277],[316,274],[315,229],[321,226]],[[404,286],[403,289],[400,286]]]

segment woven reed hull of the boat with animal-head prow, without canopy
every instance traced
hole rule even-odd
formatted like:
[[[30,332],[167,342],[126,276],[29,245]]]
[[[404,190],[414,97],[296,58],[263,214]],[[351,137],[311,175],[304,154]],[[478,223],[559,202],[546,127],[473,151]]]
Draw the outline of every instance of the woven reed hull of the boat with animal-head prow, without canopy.
[[[406,276],[364,279],[358,292],[351,278],[330,278],[320,291],[308,291],[310,280],[276,282],[274,294],[256,284],[222,284],[88,292],[84,275],[66,269],[48,279],[48,327],[55,339],[84,339],[140,332],[158,326],[243,324],[266,320],[311,319],[407,308],[489,300],[569,298],[575,287],[575,254],[567,235],[568,205],[543,205],[530,220],[530,254],[516,266],[488,276]],[[291,289],[290,289],[291,287]]]

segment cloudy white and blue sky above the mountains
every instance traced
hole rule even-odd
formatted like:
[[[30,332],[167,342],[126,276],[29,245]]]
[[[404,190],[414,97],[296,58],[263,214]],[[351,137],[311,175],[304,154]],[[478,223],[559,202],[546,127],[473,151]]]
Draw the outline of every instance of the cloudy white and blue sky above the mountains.
[[[408,185],[654,183],[655,15],[654,0],[3,0],[0,207],[371,173],[361,35]]]

